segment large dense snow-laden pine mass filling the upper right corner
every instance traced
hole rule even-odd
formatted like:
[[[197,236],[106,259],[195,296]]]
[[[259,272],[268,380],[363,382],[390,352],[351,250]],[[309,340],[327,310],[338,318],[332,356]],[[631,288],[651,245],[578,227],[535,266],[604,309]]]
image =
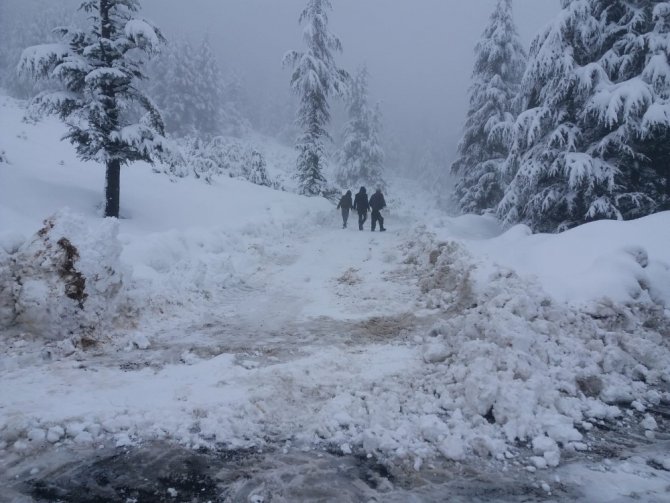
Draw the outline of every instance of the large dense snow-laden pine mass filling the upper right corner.
[[[524,75],[504,221],[560,231],[667,206],[667,4],[563,0]]]

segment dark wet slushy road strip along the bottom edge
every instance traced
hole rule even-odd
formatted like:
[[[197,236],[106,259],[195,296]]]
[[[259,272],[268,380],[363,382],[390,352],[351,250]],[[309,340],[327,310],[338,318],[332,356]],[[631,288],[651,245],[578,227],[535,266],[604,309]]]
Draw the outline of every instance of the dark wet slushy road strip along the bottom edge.
[[[70,460],[26,476],[14,489],[26,498],[21,501],[64,503],[536,502],[548,496],[527,474],[481,466],[415,472],[389,469],[367,456],[193,451],[164,443]],[[553,489],[552,501],[577,499]]]

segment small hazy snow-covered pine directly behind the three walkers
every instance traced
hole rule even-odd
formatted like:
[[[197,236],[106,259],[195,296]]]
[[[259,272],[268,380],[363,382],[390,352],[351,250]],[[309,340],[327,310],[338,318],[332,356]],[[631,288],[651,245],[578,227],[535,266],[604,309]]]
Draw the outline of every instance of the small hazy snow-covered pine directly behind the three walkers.
[[[349,121],[338,154],[337,181],[343,187],[359,184],[384,187],[384,149],[380,142],[381,107],[368,104],[368,70],[362,67],[352,79],[348,96]]]

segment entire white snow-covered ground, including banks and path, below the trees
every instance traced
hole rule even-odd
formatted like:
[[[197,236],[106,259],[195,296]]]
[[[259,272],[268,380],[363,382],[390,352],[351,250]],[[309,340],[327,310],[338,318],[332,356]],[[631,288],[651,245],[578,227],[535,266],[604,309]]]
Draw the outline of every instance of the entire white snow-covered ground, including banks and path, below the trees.
[[[0,487],[54,449],[167,441],[668,497],[670,213],[503,232],[397,180],[372,234],[322,199],[138,163],[105,221],[103,169],[22,116],[0,97]],[[562,462],[606,428],[659,449]]]

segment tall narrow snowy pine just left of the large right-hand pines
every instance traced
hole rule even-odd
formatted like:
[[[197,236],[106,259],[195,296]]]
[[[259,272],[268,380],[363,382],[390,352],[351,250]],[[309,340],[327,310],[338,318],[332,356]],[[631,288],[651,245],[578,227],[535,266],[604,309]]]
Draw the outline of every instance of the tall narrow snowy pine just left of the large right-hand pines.
[[[490,211],[503,197],[500,166],[508,154],[525,65],[512,0],[498,0],[475,48],[470,107],[458,158],[451,165],[458,177],[456,203],[464,213]]]

